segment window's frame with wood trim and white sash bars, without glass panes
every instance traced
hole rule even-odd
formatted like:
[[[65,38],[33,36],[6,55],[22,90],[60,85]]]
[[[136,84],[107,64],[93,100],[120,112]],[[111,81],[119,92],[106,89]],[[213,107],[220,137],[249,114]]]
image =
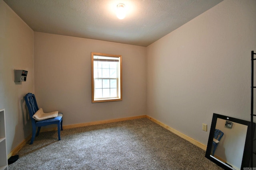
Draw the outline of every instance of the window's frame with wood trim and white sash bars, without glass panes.
[[[94,70],[94,61],[111,61],[113,60],[114,62],[117,62],[118,64],[118,71],[117,71],[117,78],[111,78],[111,77],[107,77],[107,78],[103,78],[103,77],[98,77],[98,70]],[[109,54],[104,54],[104,53],[91,53],[91,66],[92,66],[92,103],[98,103],[98,102],[114,102],[114,101],[122,101],[122,56],[121,55],[109,55]],[[110,70],[110,68],[109,68]],[[94,75],[94,73],[97,72],[98,75]],[[95,81],[96,80],[117,80],[117,84],[116,84],[116,96],[115,97],[101,97],[101,98],[96,98],[95,92],[96,92],[96,88],[95,88]],[[98,88],[98,89],[104,89],[102,88]],[[110,88],[109,88],[110,89]]]

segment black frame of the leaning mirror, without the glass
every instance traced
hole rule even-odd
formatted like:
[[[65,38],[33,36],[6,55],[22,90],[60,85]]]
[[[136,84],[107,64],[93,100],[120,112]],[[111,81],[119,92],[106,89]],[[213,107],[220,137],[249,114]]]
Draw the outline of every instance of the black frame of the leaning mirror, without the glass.
[[[206,154],[205,157],[210,159],[212,162],[216,163],[218,166],[226,169],[226,170],[232,170],[227,164],[224,164],[216,159],[214,159],[211,155],[211,150],[212,150],[212,140],[214,137],[214,131],[216,127],[216,122],[217,118],[240,123],[242,125],[247,125],[247,133],[246,133],[246,140],[245,140],[245,145],[244,145],[244,154],[243,154],[243,159],[242,159],[242,164],[241,164],[241,170],[246,167],[250,167],[250,138],[251,138],[251,122],[250,121],[245,121],[241,119],[236,119],[233,117],[229,116],[224,116],[224,115],[219,115],[216,113],[213,113],[212,116],[212,124],[211,124],[211,129],[210,129],[210,134],[209,134],[209,139],[208,139],[208,144],[207,144],[207,149],[206,149]],[[253,129],[255,128],[255,123],[253,123]]]

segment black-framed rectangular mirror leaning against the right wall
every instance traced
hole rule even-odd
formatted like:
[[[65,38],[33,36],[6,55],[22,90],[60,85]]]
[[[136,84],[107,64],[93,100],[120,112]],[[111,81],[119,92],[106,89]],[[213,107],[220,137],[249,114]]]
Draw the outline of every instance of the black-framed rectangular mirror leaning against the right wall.
[[[228,170],[250,167],[250,135],[249,121],[213,113],[205,157]]]

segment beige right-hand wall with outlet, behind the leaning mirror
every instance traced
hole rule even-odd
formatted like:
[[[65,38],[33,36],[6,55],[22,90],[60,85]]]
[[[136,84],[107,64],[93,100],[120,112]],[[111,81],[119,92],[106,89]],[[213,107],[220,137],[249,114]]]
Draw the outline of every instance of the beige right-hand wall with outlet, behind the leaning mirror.
[[[207,145],[212,113],[250,120],[256,1],[224,0],[147,47],[147,114]]]

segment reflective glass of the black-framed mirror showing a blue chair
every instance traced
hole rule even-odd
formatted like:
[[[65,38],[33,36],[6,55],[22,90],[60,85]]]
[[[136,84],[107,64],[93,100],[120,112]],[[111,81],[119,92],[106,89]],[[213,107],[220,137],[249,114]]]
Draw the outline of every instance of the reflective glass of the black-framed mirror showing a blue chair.
[[[211,155],[240,170],[247,129],[247,125],[217,118]]]

